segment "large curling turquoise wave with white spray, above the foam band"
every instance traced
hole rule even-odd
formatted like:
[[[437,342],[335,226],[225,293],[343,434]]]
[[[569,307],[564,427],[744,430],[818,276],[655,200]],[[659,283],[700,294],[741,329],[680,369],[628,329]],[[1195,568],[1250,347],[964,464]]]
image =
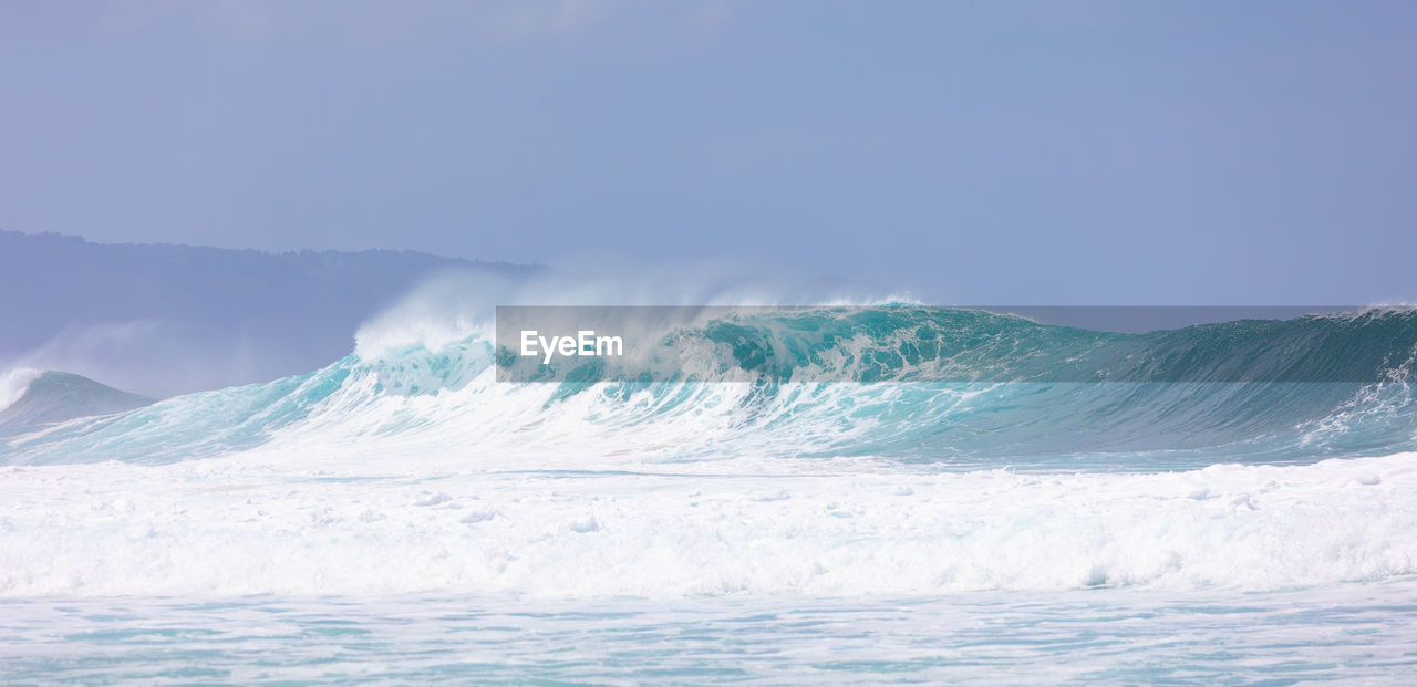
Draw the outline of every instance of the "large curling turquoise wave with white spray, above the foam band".
[[[483,330],[43,428],[6,441],[0,459],[162,463],[259,446],[388,445],[458,450],[473,466],[565,453],[587,463],[751,455],[1182,469],[1417,442],[1417,314],[1403,309],[1115,334],[976,310],[852,306],[751,310],[657,336],[691,351],[699,371],[499,382]],[[826,374],[850,381],[820,381]]]

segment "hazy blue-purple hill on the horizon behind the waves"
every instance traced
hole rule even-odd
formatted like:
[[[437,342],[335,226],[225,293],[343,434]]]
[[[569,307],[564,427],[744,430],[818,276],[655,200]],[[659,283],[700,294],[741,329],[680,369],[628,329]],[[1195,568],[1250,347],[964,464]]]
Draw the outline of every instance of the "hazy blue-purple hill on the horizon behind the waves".
[[[72,370],[152,395],[262,381],[344,356],[361,322],[432,273],[541,269],[0,231],[0,370]]]

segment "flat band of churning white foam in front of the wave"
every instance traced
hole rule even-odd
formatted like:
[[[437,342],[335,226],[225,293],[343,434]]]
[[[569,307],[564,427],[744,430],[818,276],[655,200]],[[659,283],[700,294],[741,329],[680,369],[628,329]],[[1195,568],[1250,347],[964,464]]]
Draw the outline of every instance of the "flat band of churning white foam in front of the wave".
[[[4,467],[0,596],[928,595],[1417,574],[1417,453],[1153,475],[485,470],[459,453]]]

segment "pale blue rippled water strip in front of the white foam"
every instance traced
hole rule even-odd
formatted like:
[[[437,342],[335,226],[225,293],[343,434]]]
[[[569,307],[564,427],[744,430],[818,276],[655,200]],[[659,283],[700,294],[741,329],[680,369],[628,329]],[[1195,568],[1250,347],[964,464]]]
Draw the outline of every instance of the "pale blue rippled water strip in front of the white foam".
[[[1417,674],[1417,581],[1321,592],[0,602],[7,683],[1298,684]]]

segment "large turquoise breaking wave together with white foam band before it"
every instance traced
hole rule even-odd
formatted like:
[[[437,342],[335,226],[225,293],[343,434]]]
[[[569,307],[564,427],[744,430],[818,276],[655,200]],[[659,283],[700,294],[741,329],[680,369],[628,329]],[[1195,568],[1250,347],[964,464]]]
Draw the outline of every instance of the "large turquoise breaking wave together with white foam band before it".
[[[820,307],[656,336],[697,371],[513,384],[487,330],[385,336],[310,374],[24,428],[0,438],[0,596],[1417,574],[1408,310],[1115,334]],[[809,381],[826,373],[847,381]]]

